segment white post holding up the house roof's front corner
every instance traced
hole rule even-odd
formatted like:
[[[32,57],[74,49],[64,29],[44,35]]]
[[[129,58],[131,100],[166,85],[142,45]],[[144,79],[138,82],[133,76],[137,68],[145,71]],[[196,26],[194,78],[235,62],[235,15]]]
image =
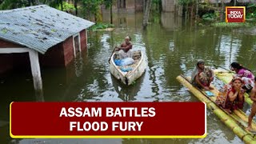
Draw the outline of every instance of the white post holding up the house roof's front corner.
[[[42,78],[41,78],[38,52],[35,50],[29,50],[29,54],[30,54],[31,73],[32,73],[33,82],[34,82],[34,90],[36,92],[36,95],[37,94],[41,95],[42,94]]]

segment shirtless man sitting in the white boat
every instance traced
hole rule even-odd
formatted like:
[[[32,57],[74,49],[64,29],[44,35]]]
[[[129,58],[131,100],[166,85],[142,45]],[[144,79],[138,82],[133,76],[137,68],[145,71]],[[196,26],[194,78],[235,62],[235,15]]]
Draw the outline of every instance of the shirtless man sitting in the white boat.
[[[120,59],[122,59],[122,58],[132,58],[133,53],[132,53],[131,49],[133,48],[133,45],[130,41],[131,41],[130,36],[127,36],[125,38],[125,42],[122,42],[121,46],[116,46],[115,47],[115,50],[118,51]]]

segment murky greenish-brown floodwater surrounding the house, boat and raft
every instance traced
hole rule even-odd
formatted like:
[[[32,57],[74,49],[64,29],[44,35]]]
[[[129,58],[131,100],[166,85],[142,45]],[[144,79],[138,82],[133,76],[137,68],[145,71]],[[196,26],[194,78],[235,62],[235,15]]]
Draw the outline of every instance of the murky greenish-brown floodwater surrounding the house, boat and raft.
[[[104,15],[109,21],[109,15]],[[0,78],[1,142],[4,143],[242,143],[210,110],[207,110],[207,136],[194,139],[19,139],[9,136],[8,106],[12,101],[45,102],[197,102],[175,79],[190,75],[198,58],[207,66],[228,68],[238,61],[256,74],[256,36],[242,28],[193,26],[161,14],[142,30],[142,14],[115,14],[113,31],[90,32],[88,50],[66,68],[43,68],[43,97],[34,96],[30,71],[22,70]],[[251,31],[251,30],[250,30]],[[108,59],[114,46],[130,35],[135,50],[146,52],[149,66],[133,86],[123,86],[110,74]],[[216,85],[222,83],[214,81]],[[246,112],[248,106],[245,108]],[[190,118],[187,118],[190,122]],[[191,123],[192,124],[192,123]],[[156,124],[157,125],[157,124]]]

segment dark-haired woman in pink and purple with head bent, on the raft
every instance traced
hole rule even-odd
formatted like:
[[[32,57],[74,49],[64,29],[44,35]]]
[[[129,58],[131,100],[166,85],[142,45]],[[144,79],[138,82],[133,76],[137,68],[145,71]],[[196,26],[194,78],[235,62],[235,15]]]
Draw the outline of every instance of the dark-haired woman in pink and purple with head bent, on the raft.
[[[243,89],[246,90],[246,92],[250,92],[254,87],[254,74],[238,62],[232,62],[230,64],[230,70],[235,71],[236,74],[234,77],[242,78],[242,81],[245,84]]]

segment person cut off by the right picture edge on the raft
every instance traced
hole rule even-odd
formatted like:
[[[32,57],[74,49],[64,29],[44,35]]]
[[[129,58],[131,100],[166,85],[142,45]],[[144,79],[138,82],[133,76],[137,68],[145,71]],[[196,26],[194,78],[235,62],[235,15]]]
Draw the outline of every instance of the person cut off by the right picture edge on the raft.
[[[251,105],[250,115],[248,117],[248,127],[246,130],[252,131],[251,122],[256,114],[256,78],[254,78],[254,88],[250,92],[250,99],[253,101],[253,104]]]

